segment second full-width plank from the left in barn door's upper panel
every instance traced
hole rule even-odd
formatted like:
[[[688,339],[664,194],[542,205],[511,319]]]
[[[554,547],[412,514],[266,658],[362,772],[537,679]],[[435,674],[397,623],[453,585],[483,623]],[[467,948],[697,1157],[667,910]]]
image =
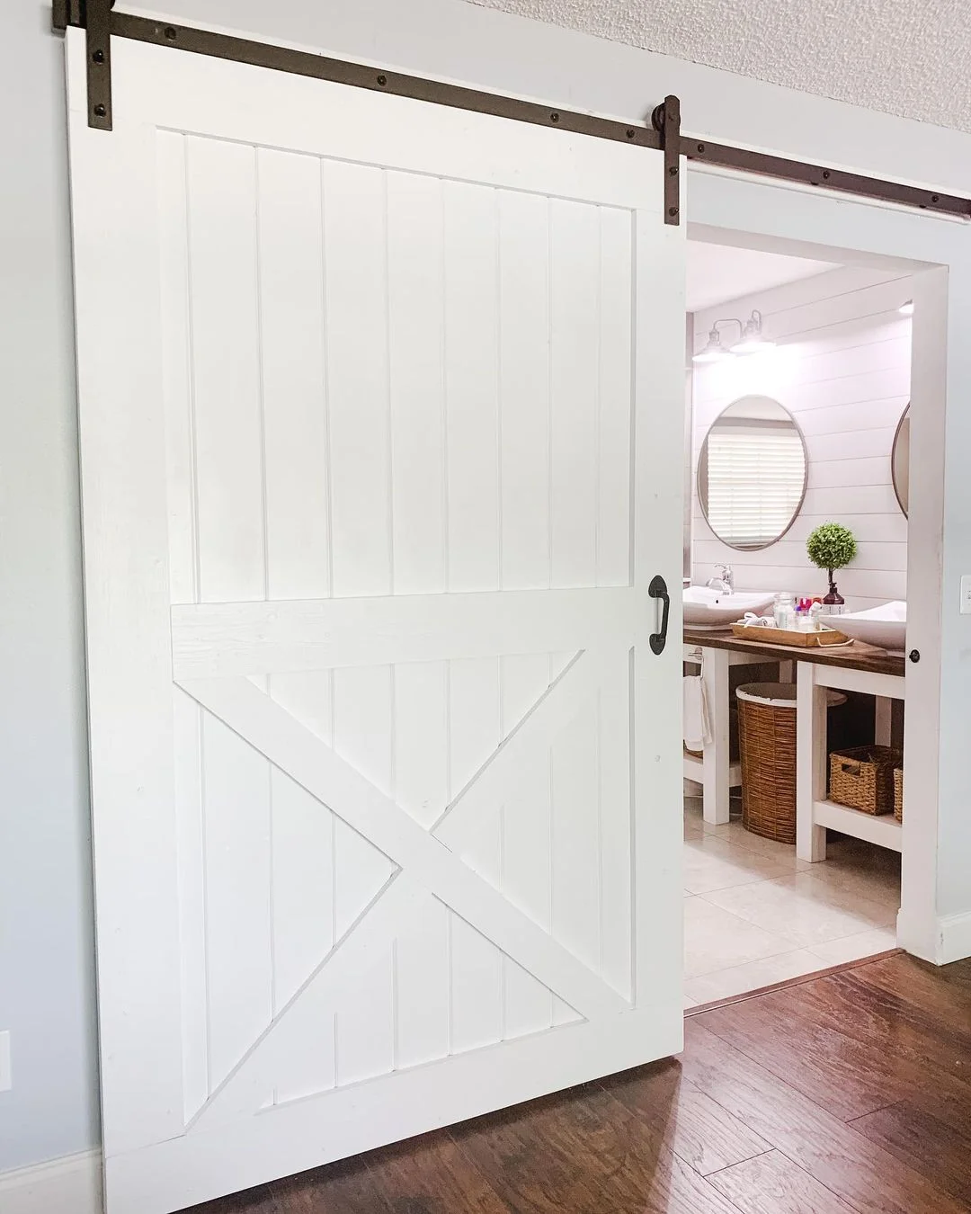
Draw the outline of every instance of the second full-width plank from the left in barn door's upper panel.
[[[330,594],[320,170],[257,151],[260,323],[271,599]]]

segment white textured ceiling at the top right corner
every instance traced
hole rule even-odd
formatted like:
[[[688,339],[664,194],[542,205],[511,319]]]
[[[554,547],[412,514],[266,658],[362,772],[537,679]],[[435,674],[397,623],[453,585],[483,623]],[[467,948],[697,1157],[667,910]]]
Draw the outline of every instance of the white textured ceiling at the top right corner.
[[[470,0],[971,131],[971,0]]]

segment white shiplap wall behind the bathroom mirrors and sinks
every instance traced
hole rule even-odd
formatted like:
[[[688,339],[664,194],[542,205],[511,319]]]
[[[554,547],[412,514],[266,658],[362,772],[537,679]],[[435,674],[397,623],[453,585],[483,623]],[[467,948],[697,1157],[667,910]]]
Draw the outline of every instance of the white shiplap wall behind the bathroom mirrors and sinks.
[[[715,538],[695,480],[695,583],[729,563],[739,589],[825,594],[825,573],[810,563],[806,538],[831,520],[857,538],[856,561],[836,578],[847,609],[907,596],[907,520],[893,492],[891,452],[910,396],[910,320],[897,311],[909,297],[909,278],[847,267],[695,313],[695,351],[715,319],[744,320],[753,308],[762,312],[765,333],[778,345],[731,362],[694,364],[694,467],[711,422],[749,393],[774,397],[789,409],[810,461],[799,517],[779,543],[759,552],[739,552]]]

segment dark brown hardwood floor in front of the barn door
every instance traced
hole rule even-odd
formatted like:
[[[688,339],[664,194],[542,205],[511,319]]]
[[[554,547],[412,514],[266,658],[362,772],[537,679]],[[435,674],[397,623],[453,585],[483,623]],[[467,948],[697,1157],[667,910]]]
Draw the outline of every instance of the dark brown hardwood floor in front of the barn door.
[[[971,961],[903,954],[685,1021],[685,1053],[192,1214],[960,1214]]]

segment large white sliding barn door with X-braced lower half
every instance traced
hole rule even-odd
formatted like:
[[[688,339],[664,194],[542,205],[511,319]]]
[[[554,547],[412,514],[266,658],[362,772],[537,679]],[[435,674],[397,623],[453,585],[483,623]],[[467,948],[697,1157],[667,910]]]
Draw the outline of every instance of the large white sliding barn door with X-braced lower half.
[[[661,154],[68,35],[109,1214],[675,1053]]]

